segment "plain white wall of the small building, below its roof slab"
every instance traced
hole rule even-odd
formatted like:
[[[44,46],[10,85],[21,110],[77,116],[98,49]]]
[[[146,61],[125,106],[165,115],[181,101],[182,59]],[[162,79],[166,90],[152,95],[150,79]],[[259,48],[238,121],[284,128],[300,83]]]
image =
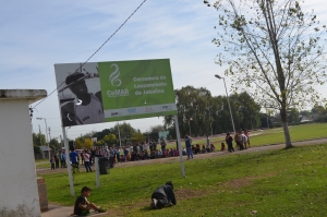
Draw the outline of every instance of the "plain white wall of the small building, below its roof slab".
[[[0,96],[0,216],[40,216],[28,100]]]

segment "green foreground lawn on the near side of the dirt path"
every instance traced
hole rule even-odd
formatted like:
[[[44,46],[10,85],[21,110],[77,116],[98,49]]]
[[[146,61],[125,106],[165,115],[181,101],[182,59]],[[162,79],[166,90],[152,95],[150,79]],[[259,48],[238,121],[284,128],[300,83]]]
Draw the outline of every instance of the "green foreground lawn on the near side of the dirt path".
[[[76,195],[93,189],[89,201],[111,216],[326,216],[327,144],[265,153],[228,155],[179,162],[114,168],[100,176],[75,177]],[[66,173],[44,176],[50,203],[73,205]],[[178,205],[150,209],[156,186],[172,180]],[[113,215],[113,214],[114,215]]]

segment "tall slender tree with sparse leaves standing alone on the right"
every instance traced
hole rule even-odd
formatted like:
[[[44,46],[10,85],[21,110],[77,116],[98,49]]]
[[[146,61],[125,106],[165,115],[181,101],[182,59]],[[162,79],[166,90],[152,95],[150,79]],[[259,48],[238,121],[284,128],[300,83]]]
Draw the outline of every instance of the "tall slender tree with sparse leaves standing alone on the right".
[[[239,2],[238,4],[235,2]],[[319,100],[324,84],[326,26],[296,0],[218,0],[217,63],[229,65],[232,89],[252,92],[265,108],[277,109],[286,147],[292,147],[287,110]]]

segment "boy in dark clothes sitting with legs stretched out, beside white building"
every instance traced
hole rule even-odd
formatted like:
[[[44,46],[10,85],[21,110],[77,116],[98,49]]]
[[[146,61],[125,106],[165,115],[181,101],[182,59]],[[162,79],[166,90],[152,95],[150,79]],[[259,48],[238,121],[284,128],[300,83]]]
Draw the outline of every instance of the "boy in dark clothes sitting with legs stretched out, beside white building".
[[[105,213],[106,209],[96,206],[94,203],[87,201],[87,197],[90,195],[90,189],[83,186],[82,194],[75,201],[74,213],[71,216],[87,216],[90,209],[94,209],[99,213]]]

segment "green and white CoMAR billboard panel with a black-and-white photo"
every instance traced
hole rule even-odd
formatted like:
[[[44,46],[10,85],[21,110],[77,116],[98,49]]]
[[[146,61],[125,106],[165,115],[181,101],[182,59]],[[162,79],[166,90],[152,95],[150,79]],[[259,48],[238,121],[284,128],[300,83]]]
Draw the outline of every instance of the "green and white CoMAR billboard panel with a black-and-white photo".
[[[55,64],[63,126],[177,113],[169,59]]]

